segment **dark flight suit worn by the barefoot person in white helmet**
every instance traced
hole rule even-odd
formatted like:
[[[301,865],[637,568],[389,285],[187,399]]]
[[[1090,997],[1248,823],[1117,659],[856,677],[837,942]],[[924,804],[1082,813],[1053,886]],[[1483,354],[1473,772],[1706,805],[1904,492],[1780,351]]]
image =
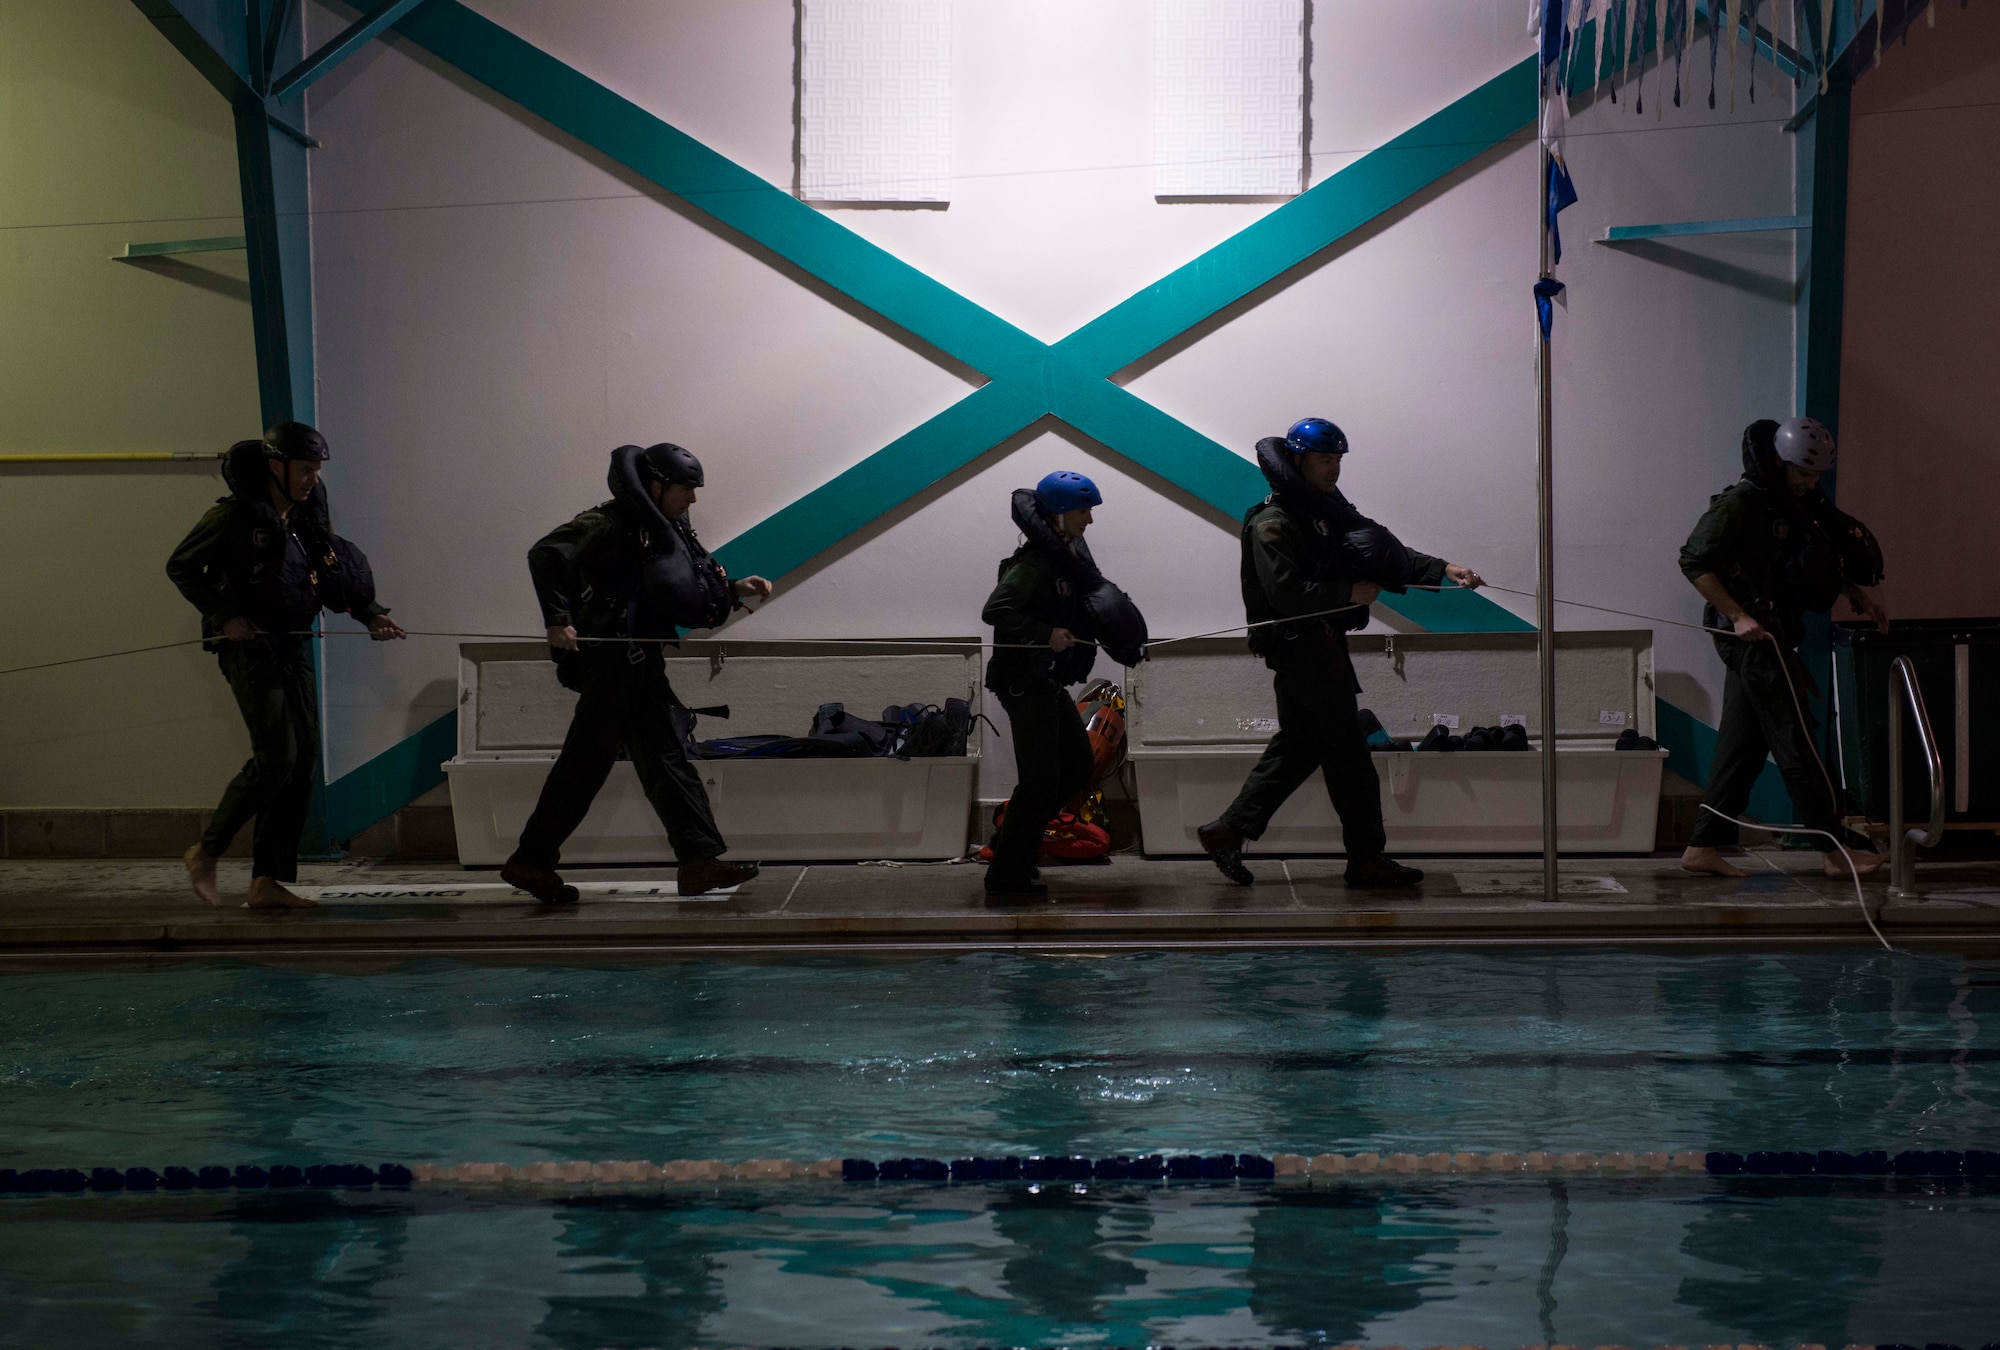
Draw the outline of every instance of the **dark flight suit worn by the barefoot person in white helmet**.
[[[1680,548],[1680,570],[1690,582],[1714,572],[1730,596],[1778,638],[1772,644],[1764,638],[1744,642],[1714,634],[1726,668],[1722,726],[1716,728],[1716,758],[1702,796],[1702,804],[1714,810],[1696,812],[1688,836],[1692,848],[1736,844],[1736,826],[1714,812],[1744,814],[1766,754],[1778,762],[1792,794],[1796,824],[1842,834],[1832,784],[1812,748],[1806,698],[1814,686],[1796,650],[1806,636],[1804,608],[1786,586],[1788,560],[1798,556],[1808,532],[1818,526],[1798,498],[1788,498],[1782,486],[1766,488],[1758,478],[1746,476],[1710,502]],[[1710,628],[1730,626],[1714,606],[1704,610],[1702,622]]]

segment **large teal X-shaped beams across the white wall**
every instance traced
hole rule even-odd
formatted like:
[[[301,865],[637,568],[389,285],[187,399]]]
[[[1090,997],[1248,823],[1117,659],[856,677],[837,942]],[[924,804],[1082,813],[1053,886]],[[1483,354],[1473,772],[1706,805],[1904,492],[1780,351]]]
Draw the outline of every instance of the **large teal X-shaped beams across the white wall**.
[[[1266,492],[1256,466],[1112,384],[1112,376],[1532,126],[1536,116],[1530,58],[1048,344],[456,0],[426,0],[396,20],[396,32],[986,376],[944,412],[718,548],[738,576],[798,568],[1044,416],[1240,516]],[[1382,602],[1434,632],[1530,628],[1470,590]],[[330,836],[350,838],[442,782],[438,764],[454,748],[456,718],[446,714],[330,782]]]

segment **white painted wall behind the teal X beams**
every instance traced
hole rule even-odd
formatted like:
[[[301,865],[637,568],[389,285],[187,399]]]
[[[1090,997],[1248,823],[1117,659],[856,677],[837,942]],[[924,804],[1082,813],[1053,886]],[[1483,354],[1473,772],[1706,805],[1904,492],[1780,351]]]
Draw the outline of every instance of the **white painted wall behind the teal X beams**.
[[[788,0],[476,8],[790,184]],[[1316,174],[1526,56],[1522,10],[1316,4]],[[344,18],[312,8],[312,40]],[[1144,0],[960,0],[950,208],[836,220],[1044,340],[1228,238],[1272,208],[1152,200],[1148,32]],[[712,486],[696,520],[714,546],[978,382],[408,44],[370,46],[310,98],[326,142],[312,192],[334,504],[412,628],[536,632],[522,554],[602,500],[618,442],[672,438],[702,454]],[[1734,476],[1742,424],[1790,404],[1790,304],[1728,272],[1788,286],[1788,238],[1736,236],[1664,260],[1588,244],[1610,222],[1790,212],[1782,112],[1740,108],[1654,120],[1648,98],[1644,118],[1620,102],[1572,126],[1584,200],[1564,216],[1572,304],[1558,318],[1556,396],[1558,588],[1570,598],[1692,620],[1674,550]],[[1356,446],[1346,486],[1364,510],[1528,590],[1536,188],[1532,146],[1490,154],[1124,380],[1242,454],[1296,416],[1334,416]],[[1014,546],[1006,490],[1056,466],[1104,488],[1092,544],[1156,634],[1240,622],[1234,522],[1038,426],[782,578],[738,630],[978,632],[994,564]],[[1526,598],[1498,600],[1532,612]],[[1570,610],[1564,622],[1628,620]],[[332,644],[328,770],[446,712],[454,650],[446,638]],[[1714,720],[1720,680],[1704,640],[1662,630],[1660,666],[1666,692]],[[996,754],[984,792],[1002,796],[1010,780]]]

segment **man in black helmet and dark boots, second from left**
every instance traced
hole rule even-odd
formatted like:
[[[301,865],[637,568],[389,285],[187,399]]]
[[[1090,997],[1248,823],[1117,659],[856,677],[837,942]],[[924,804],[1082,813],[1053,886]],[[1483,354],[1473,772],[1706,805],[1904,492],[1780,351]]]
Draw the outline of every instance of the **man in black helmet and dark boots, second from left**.
[[[666,826],[680,862],[678,890],[698,896],[756,876],[756,864],[722,862],[702,776],[688,762],[674,724],[680,700],[666,682],[664,642],[680,628],[712,628],[746,596],[770,596],[770,582],[730,582],[708,556],[688,508],[704,484],[702,462],[674,444],[612,452],[612,500],[550,530],[528,550],[528,574],[542,604],[556,678],[576,690],[576,714],[562,754],[520,832],[500,878],[544,904],[574,904],[576,888],[556,874],[562,844],[624,748],[646,800]]]

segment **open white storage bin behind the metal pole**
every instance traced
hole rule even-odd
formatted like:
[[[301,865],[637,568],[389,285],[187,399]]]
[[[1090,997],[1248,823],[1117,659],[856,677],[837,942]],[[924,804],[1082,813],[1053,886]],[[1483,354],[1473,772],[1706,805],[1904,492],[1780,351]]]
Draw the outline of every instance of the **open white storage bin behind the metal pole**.
[[[1536,634],[1350,634],[1360,704],[1390,736],[1420,740],[1518,716],[1540,750]],[[1196,828],[1236,798],[1276,730],[1270,670],[1240,638],[1158,648],[1132,674],[1128,744],[1148,854],[1200,854]],[[1650,852],[1664,750],[1612,750],[1654,734],[1652,634],[1556,640],[1556,842],[1568,852]],[[1390,852],[1542,852],[1542,756],[1518,750],[1378,752]],[[1272,818],[1252,854],[1342,852],[1318,774]]]

